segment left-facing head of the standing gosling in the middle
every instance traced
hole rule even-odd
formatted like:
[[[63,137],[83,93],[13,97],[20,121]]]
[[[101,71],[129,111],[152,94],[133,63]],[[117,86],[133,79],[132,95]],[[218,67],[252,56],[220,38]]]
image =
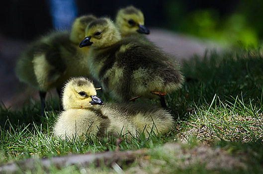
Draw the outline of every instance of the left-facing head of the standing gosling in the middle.
[[[86,27],[86,38],[80,47],[106,48],[121,39],[120,32],[109,18],[103,17],[93,20]]]

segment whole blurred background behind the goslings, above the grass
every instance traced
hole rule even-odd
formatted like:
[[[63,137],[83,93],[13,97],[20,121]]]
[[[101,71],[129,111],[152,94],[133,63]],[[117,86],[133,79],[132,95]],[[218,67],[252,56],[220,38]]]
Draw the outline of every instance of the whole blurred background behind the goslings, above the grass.
[[[0,101],[12,106],[37,95],[18,83],[13,72],[30,41],[50,30],[70,29],[83,14],[114,19],[120,7],[131,4],[143,11],[149,39],[180,59],[201,55],[211,43],[257,46],[263,39],[263,0],[1,0]]]

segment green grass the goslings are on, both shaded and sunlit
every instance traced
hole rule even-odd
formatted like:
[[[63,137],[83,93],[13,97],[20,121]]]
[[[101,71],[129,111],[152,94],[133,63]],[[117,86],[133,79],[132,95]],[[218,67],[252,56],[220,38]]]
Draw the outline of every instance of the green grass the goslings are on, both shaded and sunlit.
[[[126,173],[262,173],[263,168],[263,56],[260,50],[237,50],[182,63],[183,87],[167,96],[175,128],[167,135],[134,137],[120,151],[152,151],[129,165]],[[108,101],[106,95],[102,99]],[[158,103],[158,100],[147,101]],[[87,137],[67,142],[52,136],[59,108],[49,99],[49,112],[41,117],[40,103],[25,103],[11,111],[0,106],[0,164],[23,159],[115,151],[116,139]],[[176,143],[175,150],[167,143]],[[165,147],[163,147],[165,145]],[[205,149],[204,153],[201,150]],[[200,153],[199,153],[200,151]],[[214,154],[217,152],[217,154]],[[221,161],[216,161],[222,155]],[[208,160],[207,160],[208,159]],[[224,161],[225,159],[225,161]],[[207,161],[206,161],[207,160]],[[213,161],[215,160],[215,161]],[[227,167],[233,162],[233,167]],[[212,163],[211,163],[212,162]],[[212,164],[212,165],[211,165]],[[244,165],[246,167],[244,167]],[[209,167],[210,166],[210,167]],[[212,166],[212,167],[211,167]],[[36,165],[29,173],[116,173],[114,168],[71,166],[59,170]]]

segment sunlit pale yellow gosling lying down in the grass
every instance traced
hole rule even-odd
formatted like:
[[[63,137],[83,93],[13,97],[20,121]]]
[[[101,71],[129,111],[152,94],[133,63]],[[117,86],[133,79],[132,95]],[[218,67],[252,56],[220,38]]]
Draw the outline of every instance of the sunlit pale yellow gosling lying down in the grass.
[[[54,134],[65,139],[92,134],[134,135],[167,133],[173,127],[173,118],[162,108],[142,104],[105,103],[96,96],[93,84],[86,78],[73,78],[63,90],[64,111],[54,126]]]

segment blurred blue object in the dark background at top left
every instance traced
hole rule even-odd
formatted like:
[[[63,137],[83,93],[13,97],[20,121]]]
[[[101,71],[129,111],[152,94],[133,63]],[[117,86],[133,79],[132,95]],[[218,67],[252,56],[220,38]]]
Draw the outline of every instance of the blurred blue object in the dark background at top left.
[[[55,29],[69,29],[77,16],[75,0],[50,0],[50,9]]]

